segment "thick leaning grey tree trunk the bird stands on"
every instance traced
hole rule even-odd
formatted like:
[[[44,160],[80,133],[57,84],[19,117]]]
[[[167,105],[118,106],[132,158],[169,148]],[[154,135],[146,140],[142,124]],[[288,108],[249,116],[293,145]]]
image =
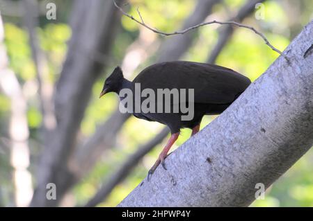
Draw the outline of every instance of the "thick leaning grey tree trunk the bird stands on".
[[[313,144],[313,21],[282,56],[119,206],[248,206]]]

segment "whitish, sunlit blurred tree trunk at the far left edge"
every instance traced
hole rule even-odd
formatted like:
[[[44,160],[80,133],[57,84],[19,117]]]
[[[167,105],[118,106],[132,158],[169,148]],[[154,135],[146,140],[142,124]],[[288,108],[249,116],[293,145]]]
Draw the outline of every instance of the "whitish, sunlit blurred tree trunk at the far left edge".
[[[8,66],[8,55],[4,42],[4,28],[0,15],[0,87],[10,98],[11,115],[9,124],[10,163],[13,167],[13,184],[16,206],[28,206],[33,186],[29,152],[29,127],[27,123],[27,103],[17,76]]]

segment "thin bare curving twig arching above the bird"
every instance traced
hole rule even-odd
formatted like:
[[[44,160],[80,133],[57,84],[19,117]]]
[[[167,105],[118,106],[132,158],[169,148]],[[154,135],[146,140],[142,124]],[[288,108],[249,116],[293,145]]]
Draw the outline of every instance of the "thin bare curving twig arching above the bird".
[[[234,25],[234,26],[239,26],[241,28],[247,28],[247,29],[250,29],[252,30],[254,33],[256,33],[257,35],[259,35],[260,37],[262,37],[262,39],[264,40],[265,44],[267,46],[269,46],[273,51],[276,51],[277,53],[279,53],[280,55],[282,55],[287,61],[288,58],[286,55],[284,55],[284,53],[282,53],[282,51],[278,50],[278,48],[275,48],[270,42],[268,42],[268,39],[262,34],[260,33],[258,30],[256,30],[255,28],[253,28],[252,26],[247,26],[245,24],[240,24],[239,22],[236,22],[236,21],[216,21],[216,20],[213,20],[213,21],[207,21],[207,22],[202,22],[200,24],[197,24],[195,26],[191,26],[191,27],[188,27],[188,28],[185,28],[184,30],[176,30],[175,32],[172,32],[172,33],[164,33],[160,30],[157,30],[157,28],[152,28],[150,26],[148,26],[147,24],[145,24],[143,22],[143,19],[141,17],[141,14],[137,8],[137,11],[138,11],[138,14],[140,15],[142,21],[139,21],[138,19],[136,19],[134,16],[132,15],[129,15],[127,12],[125,12],[122,8],[120,8],[120,6],[118,6],[118,4],[113,0],[113,3],[115,5],[116,8],[118,8],[118,10],[120,10],[122,12],[123,15],[129,17],[130,19],[136,21],[138,24],[141,24],[142,26],[144,26],[145,28],[149,29],[149,30],[152,30],[154,33],[157,33],[157,34],[160,34],[160,35],[164,35],[164,36],[170,36],[170,35],[183,35],[184,33],[187,33],[188,31],[190,30],[193,30],[195,28],[199,28],[201,26],[207,26],[209,24],[230,24],[230,25]]]

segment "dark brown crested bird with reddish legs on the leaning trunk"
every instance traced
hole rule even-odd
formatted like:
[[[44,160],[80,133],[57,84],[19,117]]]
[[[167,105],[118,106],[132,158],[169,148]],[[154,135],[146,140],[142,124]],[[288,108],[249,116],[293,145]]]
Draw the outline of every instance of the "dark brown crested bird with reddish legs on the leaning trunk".
[[[166,169],[164,159],[168,156],[172,144],[177,140],[181,128],[190,128],[192,130],[191,136],[196,134],[200,129],[200,122],[204,115],[222,113],[250,85],[251,81],[232,69],[214,64],[186,61],[162,62],[147,67],[132,82],[123,77],[120,67],[116,67],[111,76],[104,82],[100,97],[109,92],[120,95],[122,89],[129,89],[134,92],[133,94],[136,94],[136,83],[140,83],[141,92],[144,89],[150,89],[157,96],[158,89],[186,89],[186,100],[170,100],[171,112],[169,113],[164,112],[165,106],[168,105],[168,103],[165,103],[165,99],[161,103],[158,103],[158,98],[140,99],[141,103],[143,103],[143,100],[148,99],[150,105],[154,105],[156,110],[157,107],[163,105],[163,112],[146,112],[142,109],[140,112],[135,112],[135,105],[133,107],[125,105],[127,109],[131,109],[137,118],[157,121],[170,128],[170,139],[161,154],[159,154],[154,166],[149,170],[149,180],[150,175],[154,173],[160,163]],[[188,89],[193,89],[192,100],[188,97]],[[125,96],[120,95],[122,102],[124,99]],[[136,101],[135,96],[131,99]],[[193,107],[193,117],[188,121],[182,120],[182,116],[186,115],[186,112],[180,109],[180,105],[183,103],[186,107]],[[178,112],[173,111],[175,107],[178,107]]]

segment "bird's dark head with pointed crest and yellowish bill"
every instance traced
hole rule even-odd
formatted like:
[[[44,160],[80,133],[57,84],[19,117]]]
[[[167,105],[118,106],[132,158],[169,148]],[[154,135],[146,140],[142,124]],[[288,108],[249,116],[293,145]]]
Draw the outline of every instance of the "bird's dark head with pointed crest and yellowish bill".
[[[101,98],[102,96],[104,96],[104,94],[107,94],[109,92],[118,93],[122,88],[123,79],[124,76],[122,73],[122,69],[120,69],[120,67],[115,67],[111,75],[104,81],[104,85],[99,98]]]

